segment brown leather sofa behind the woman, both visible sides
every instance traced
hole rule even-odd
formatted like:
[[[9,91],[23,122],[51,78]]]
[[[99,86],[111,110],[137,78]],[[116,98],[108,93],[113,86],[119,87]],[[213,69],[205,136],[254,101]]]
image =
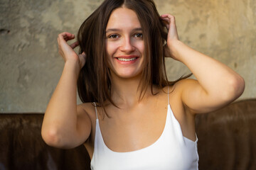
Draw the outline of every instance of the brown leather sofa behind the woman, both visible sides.
[[[0,114],[0,170],[90,169],[82,145],[49,147],[41,137],[43,113]],[[256,169],[256,99],[197,115],[199,169]]]

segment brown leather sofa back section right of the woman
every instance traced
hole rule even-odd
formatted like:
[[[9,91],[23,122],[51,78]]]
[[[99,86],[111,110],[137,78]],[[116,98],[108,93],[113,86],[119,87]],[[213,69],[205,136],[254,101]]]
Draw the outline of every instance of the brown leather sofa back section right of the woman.
[[[256,169],[256,99],[197,115],[199,169]]]

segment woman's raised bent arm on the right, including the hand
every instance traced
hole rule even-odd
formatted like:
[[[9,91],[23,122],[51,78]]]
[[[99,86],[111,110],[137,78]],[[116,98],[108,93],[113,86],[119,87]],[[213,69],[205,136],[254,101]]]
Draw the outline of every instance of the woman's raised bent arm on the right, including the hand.
[[[174,16],[161,17],[169,29],[167,47],[171,57],[186,64],[197,79],[177,83],[184,105],[193,113],[207,113],[238,98],[245,88],[242,77],[225,64],[183,44],[178,40]]]

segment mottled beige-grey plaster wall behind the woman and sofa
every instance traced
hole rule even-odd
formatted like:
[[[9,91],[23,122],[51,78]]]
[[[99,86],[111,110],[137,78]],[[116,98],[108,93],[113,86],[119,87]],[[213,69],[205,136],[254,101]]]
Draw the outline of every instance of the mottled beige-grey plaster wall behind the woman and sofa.
[[[0,112],[44,112],[63,69],[57,35],[76,33],[102,0],[0,0]],[[155,0],[176,16],[181,40],[245,78],[256,97],[255,0]],[[170,79],[188,69],[169,59]],[[216,82],[218,83],[218,82]]]

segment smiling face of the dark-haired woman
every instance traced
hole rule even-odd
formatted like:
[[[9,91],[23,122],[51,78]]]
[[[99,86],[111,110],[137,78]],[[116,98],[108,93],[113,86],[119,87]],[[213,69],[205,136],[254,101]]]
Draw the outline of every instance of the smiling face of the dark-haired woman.
[[[117,8],[112,12],[106,28],[106,51],[112,76],[132,78],[142,73],[142,26],[131,9]]]

